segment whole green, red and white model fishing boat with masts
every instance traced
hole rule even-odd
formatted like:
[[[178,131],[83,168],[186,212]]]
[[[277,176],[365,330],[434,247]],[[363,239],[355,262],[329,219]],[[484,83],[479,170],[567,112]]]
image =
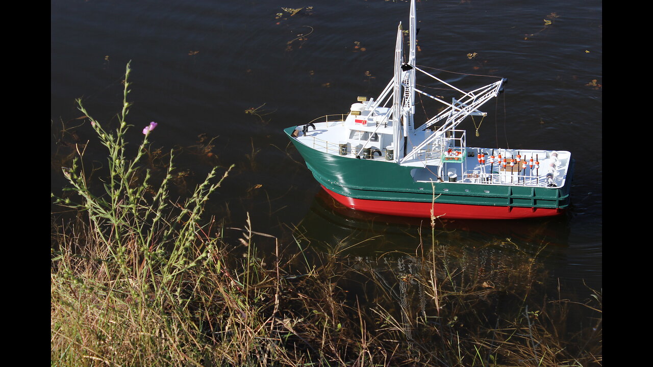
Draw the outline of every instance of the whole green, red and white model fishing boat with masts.
[[[394,74],[377,99],[358,97],[348,114],[328,115],[285,133],[315,180],[343,205],[411,217],[517,219],[559,215],[569,206],[571,153],[466,146],[468,117],[503,91],[501,79],[464,91],[415,63],[417,20],[411,1],[409,49],[399,24]],[[451,103],[416,88],[417,72],[456,93]],[[414,120],[415,93],[445,108]]]

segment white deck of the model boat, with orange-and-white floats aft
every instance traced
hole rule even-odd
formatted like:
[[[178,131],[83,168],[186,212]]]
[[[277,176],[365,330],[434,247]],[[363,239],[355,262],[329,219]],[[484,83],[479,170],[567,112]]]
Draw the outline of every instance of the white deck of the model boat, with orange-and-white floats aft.
[[[370,148],[371,152],[377,151],[370,155],[370,159],[386,160],[384,137],[392,135],[392,127],[356,126],[353,129],[345,126],[343,120],[323,121],[313,123],[313,125],[315,125],[315,129],[309,128],[306,133],[298,131],[296,139],[314,150],[356,159],[357,155],[364,158],[363,149]],[[377,139],[370,139],[370,135],[374,133],[378,135]],[[412,145],[419,144],[419,142],[421,141],[410,141]],[[340,148],[342,144],[346,146],[344,151],[341,151]],[[402,166],[415,167],[411,171],[415,182],[447,181],[562,187],[571,160],[569,152],[551,150],[493,150],[492,148],[466,147],[458,148],[457,152],[459,152],[458,155],[454,148],[451,156],[448,156],[447,152],[443,153],[440,147],[430,146],[421,150],[411,159],[402,162]],[[479,163],[477,157],[479,153],[485,153],[485,164]],[[493,153],[494,162],[490,160],[490,155]],[[444,158],[443,155],[445,155]],[[505,167],[498,162],[498,155],[502,155],[502,159],[507,160]],[[519,162],[517,162],[517,155],[521,156]],[[515,159],[513,166],[510,166],[511,159]],[[532,167],[530,159],[533,159]],[[527,161],[526,167],[523,165],[524,160]],[[536,168],[535,161],[539,161],[539,168]]]

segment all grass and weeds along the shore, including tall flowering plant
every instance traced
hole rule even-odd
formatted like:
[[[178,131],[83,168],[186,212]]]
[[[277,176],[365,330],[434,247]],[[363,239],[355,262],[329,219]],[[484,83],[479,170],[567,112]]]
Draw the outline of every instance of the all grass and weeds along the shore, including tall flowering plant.
[[[52,215],[53,366],[602,365],[602,291],[551,289],[543,247],[491,244],[505,259],[444,246],[432,226],[414,252],[373,257],[279,240],[249,217],[225,227],[204,206],[233,166],[176,197],[174,152],[153,169],[156,123],[126,149],[130,72],[115,130],[78,100],[105,167],[85,164],[97,144],[76,148],[52,195],[68,211]]]

